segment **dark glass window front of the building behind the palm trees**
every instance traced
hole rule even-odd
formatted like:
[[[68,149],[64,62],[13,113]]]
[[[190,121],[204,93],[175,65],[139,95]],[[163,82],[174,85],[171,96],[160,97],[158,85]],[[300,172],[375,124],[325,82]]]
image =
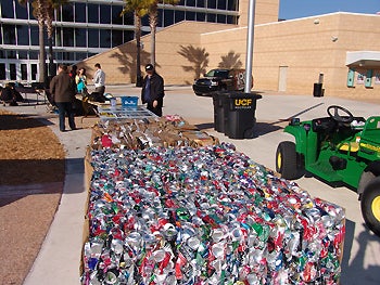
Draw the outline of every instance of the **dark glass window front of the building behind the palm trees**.
[[[0,2],[0,80],[38,80],[38,23],[31,1]],[[54,13],[53,57],[73,64],[134,39],[134,16],[121,16],[123,0],[69,0]],[[181,0],[159,5],[157,30],[181,21],[237,24],[238,0]],[[149,33],[148,16],[142,33]],[[47,44],[46,39],[46,44]]]

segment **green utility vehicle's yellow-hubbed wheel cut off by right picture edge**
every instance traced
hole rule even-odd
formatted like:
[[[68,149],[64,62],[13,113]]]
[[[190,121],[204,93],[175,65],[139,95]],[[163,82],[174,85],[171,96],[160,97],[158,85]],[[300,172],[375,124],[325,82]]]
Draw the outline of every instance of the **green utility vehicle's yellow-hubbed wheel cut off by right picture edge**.
[[[365,186],[360,208],[367,226],[380,236],[380,177],[372,179]]]

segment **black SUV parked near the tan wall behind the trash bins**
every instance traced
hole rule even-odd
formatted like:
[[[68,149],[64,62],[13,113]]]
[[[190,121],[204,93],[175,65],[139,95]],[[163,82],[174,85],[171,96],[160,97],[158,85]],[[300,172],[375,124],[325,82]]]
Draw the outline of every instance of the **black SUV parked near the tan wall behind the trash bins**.
[[[244,90],[245,69],[212,69],[203,78],[194,80],[192,90],[195,95],[210,95],[214,91]]]

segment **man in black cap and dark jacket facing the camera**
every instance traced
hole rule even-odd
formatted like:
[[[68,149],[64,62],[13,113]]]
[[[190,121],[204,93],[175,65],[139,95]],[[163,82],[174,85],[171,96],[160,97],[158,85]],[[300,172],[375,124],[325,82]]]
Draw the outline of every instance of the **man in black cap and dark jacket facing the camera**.
[[[141,102],[147,103],[147,108],[159,117],[162,116],[164,103],[164,79],[154,70],[152,64],[145,66],[147,76],[143,79]]]

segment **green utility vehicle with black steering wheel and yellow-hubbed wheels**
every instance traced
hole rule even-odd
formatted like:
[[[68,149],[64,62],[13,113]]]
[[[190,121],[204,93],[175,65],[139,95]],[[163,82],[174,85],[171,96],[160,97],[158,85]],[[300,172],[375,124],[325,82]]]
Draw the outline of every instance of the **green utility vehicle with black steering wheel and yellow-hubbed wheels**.
[[[278,145],[276,170],[289,180],[311,173],[355,189],[364,220],[380,236],[380,116],[354,117],[337,105],[327,113],[328,117],[290,121],[284,132],[295,143]]]

